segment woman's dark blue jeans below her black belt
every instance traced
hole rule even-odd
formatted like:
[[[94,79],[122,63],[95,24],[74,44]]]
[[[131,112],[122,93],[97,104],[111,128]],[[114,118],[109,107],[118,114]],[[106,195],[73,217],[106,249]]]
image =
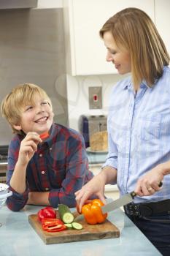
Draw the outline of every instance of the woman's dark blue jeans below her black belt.
[[[126,215],[163,256],[170,255],[170,212],[151,217]]]

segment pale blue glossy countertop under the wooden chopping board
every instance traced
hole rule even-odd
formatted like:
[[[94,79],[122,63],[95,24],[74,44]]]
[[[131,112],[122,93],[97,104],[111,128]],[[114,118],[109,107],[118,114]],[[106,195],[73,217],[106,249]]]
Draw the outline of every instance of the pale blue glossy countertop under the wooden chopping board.
[[[28,215],[35,214],[39,208],[42,206],[26,206],[19,212],[12,212],[7,206],[0,209],[0,255],[161,255],[120,209],[112,211],[108,217],[120,229],[120,238],[46,245],[28,223]]]

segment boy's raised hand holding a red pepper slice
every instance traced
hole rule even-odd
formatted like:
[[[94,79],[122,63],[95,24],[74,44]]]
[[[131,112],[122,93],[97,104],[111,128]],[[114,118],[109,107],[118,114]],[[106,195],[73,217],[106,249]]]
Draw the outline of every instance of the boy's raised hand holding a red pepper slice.
[[[20,143],[18,156],[18,163],[20,165],[28,165],[28,162],[37,150],[38,143],[42,143],[42,139],[39,138],[39,134],[36,132],[28,132],[26,137]]]

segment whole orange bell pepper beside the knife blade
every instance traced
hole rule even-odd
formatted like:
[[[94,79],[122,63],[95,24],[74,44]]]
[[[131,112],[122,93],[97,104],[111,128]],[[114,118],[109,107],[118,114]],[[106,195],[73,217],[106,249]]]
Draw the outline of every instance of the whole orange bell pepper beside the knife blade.
[[[82,214],[88,224],[102,223],[107,218],[107,214],[102,213],[101,206],[104,206],[104,203],[100,199],[93,199],[90,203],[82,206]]]

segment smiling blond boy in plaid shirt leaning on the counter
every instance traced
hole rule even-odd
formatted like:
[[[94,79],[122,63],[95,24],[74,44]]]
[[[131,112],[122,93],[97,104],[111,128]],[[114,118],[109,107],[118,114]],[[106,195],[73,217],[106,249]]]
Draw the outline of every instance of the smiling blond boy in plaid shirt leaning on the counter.
[[[31,83],[12,89],[1,113],[15,133],[8,152],[7,184],[13,194],[7,206],[12,211],[26,204],[74,207],[74,192],[93,178],[82,136],[53,122],[50,98]],[[42,140],[44,132],[50,136]]]

